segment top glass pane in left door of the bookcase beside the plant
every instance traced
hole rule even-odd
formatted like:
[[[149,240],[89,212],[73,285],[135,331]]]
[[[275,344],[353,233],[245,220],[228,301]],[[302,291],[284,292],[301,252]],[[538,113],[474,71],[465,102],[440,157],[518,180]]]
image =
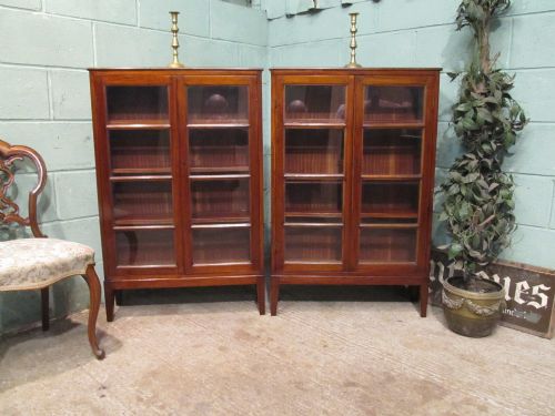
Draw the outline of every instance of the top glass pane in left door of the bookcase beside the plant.
[[[285,85],[285,122],[345,120],[344,85]]]

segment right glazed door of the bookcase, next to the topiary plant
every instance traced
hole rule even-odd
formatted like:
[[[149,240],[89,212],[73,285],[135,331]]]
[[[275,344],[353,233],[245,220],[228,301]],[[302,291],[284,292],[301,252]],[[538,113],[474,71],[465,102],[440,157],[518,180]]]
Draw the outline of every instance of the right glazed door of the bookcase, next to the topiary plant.
[[[435,128],[426,123],[433,118],[434,106],[426,103],[434,97],[432,81],[417,75],[356,80],[355,270],[386,275],[426,266],[432,199],[426,190],[433,179],[433,161],[426,155],[435,151],[428,145]]]

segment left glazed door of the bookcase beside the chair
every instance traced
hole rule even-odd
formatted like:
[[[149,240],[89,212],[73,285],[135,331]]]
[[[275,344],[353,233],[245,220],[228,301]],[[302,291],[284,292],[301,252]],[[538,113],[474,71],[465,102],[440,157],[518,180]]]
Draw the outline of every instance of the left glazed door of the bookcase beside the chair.
[[[97,81],[100,82],[100,81]],[[169,77],[148,85],[107,79],[95,91],[99,170],[104,194],[104,257],[114,275],[176,273],[179,219],[174,215],[176,166],[172,151],[175,114]],[[99,128],[100,126],[100,128]]]

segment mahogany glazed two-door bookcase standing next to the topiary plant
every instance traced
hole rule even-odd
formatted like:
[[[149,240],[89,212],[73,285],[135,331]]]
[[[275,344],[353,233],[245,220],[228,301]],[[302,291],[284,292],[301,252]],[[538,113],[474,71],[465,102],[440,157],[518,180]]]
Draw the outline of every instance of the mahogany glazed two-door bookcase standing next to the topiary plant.
[[[280,286],[420,286],[440,69],[273,69],[271,313]]]

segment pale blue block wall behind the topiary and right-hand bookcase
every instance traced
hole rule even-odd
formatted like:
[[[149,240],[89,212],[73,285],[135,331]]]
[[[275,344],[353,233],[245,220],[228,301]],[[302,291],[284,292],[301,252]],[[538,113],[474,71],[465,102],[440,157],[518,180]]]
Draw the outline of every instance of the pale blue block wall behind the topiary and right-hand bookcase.
[[[445,176],[461,148],[448,129],[457,84],[446,72],[463,69],[472,49],[471,32],[455,31],[460,0],[381,0],[320,3],[329,9],[283,16],[283,4],[261,0],[270,17],[271,67],[337,67],[349,62],[349,12],[359,11],[357,60],[364,67],[441,67],[436,182]],[[299,1],[299,4],[301,2]],[[335,4],[335,6],[334,6]],[[513,0],[492,35],[498,64],[516,74],[514,97],[532,119],[504,168],[516,182],[518,229],[502,257],[555,267],[555,1]],[[269,94],[266,94],[269,99]],[[440,206],[436,204],[436,211]],[[436,216],[437,217],[437,216]],[[445,240],[434,222],[435,242]]]

